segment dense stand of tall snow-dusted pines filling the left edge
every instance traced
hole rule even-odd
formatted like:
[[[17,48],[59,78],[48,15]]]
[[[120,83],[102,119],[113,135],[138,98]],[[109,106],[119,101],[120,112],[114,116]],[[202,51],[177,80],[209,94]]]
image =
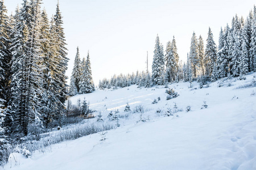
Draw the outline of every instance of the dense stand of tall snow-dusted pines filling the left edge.
[[[66,112],[68,58],[63,17],[58,3],[49,21],[41,4],[42,0],[23,0],[15,15],[7,16],[0,0],[2,151],[11,138],[47,128]]]

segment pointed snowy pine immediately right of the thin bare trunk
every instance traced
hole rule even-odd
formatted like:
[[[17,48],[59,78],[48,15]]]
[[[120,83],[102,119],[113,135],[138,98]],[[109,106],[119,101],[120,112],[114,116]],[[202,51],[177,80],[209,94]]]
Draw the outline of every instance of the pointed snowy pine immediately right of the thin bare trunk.
[[[155,40],[155,50],[152,63],[152,81],[154,85],[164,84],[164,53],[163,45],[160,44],[159,36],[156,36]]]

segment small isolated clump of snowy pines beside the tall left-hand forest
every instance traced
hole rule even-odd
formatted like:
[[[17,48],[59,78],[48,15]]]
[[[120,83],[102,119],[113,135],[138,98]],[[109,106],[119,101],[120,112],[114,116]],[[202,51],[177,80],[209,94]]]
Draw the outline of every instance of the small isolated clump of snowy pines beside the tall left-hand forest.
[[[70,82],[70,96],[75,96],[77,94],[87,94],[95,90],[92,79],[89,52],[87,58],[83,58],[81,62],[78,47]]]

